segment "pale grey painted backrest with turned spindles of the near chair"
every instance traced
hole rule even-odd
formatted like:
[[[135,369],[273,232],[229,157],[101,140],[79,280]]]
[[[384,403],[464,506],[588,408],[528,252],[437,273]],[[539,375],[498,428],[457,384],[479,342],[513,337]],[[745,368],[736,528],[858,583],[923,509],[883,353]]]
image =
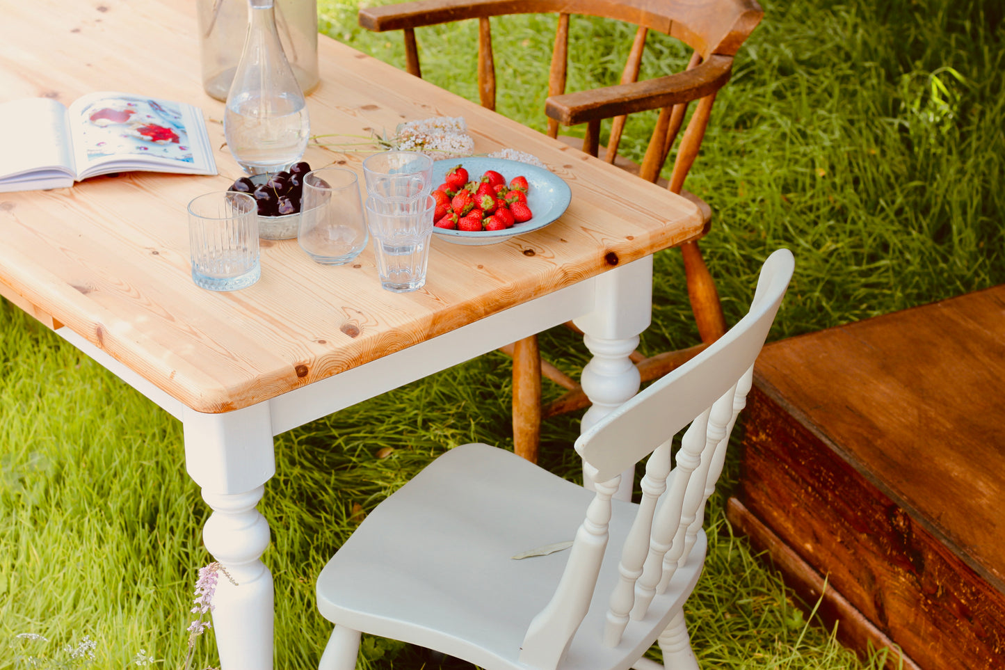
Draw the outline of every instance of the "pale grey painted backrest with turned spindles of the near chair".
[[[610,597],[605,645],[618,644],[630,620],[645,616],[655,594],[666,589],[673,571],[687,559],[701,528],[705,503],[722,473],[730,433],[746,403],[754,361],[794,268],[788,249],[772,254],[747,316],[576,441],[597,493],[555,595],[528,629],[522,662],[555,667],[568,649],[593,599],[620,473],[650,454],[642,499],[622,547],[620,580]],[[687,424],[671,470],[671,442]],[[636,574],[637,579],[631,576]]]

